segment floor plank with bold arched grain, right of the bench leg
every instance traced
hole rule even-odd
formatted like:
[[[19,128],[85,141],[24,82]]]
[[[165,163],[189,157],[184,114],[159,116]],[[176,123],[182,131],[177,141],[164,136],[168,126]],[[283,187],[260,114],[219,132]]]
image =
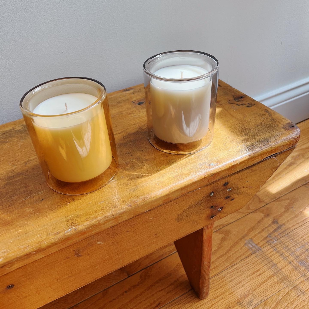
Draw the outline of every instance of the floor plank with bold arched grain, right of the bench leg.
[[[214,232],[211,276],[308,222],[308,203],[306,184]]]

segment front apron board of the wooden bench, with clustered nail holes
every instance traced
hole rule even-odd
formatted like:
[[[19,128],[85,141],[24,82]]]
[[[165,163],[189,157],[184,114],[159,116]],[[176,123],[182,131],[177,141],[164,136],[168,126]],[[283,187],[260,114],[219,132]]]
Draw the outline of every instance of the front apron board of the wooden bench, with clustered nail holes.
[[[250,200],[291,151],[273,155],[1,276],[2,303],[10,309],[21,305],[37,308],[233,213]],[[7,289],[11,284],[14,288]]]

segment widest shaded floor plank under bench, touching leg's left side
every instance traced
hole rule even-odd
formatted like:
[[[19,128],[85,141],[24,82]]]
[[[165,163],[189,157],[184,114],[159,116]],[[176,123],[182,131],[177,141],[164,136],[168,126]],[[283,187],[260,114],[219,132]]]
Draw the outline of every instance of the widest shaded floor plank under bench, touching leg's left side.
[[[178,255],[172,254],[72,309],[159,308],[190,289]]]

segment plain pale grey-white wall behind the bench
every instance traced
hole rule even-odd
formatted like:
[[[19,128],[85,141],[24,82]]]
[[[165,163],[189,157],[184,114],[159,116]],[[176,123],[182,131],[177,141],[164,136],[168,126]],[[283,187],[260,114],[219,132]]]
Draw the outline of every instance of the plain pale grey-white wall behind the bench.
[[[87,76],[115,91],[168,50],[213,54],[252,97],[309,77],[307,0],[1,0],[0,27],[0,123],[39,83]]]

